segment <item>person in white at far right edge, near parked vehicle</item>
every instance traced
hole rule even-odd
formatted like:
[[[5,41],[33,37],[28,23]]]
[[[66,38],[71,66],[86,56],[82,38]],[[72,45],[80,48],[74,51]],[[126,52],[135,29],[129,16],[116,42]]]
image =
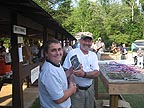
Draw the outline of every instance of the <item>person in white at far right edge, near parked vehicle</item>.
[[[141,48],[137,50],[137,66],[143,68],[143,51]]]

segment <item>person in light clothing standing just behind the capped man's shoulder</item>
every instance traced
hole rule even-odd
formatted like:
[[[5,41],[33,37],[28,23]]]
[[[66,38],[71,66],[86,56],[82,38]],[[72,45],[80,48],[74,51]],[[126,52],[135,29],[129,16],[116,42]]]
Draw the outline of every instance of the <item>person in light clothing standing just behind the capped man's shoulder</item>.
[[[101,59],[101,54],[104,53],[104,50],[105,50],[105,44],[102,41],[101,37],[98,38],[98,40],[96,41],[95,46],[96,46],[95,50],[97,52],[98,60],[100,60]]]

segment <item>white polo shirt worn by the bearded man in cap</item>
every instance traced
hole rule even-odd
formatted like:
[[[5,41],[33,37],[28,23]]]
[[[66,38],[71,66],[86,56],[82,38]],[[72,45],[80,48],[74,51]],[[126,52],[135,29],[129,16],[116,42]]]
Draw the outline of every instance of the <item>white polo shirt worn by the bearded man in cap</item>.
[[[65,61],[63,63],[64,68],[69,69],[72,66],[71,62],[70,62],[70,58],[73,55],[77,55],[78,60],[82,64],[83,70],[85,72],[99,70],[98,58],[97,58],[96,53],[89,51],[89,53],[85,55],[80,50],[80,48],[73,49],[68,53],[68,55],[66,56]],[[75,75],[73,75],[73,79],[76,84],[78,84],[79,86],[82,86],[82,87],[90,86],[93,81],[93,79],[77,77]]]

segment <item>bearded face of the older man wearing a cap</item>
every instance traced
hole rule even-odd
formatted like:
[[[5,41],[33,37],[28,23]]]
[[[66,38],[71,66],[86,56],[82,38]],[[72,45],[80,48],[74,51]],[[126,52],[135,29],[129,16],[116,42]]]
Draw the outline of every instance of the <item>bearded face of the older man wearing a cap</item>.
[[[80,40],[80,47],[84,51],[89,51],[92,45],[92,40],[90,38],[85,38]]]

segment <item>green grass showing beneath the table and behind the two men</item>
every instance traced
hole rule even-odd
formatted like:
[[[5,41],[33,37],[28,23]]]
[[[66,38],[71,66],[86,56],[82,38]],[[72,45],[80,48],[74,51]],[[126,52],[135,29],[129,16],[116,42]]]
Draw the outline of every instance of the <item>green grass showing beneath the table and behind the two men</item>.
[[[100,79],[98,84],[98,92],[106,93],[106,90]],[[136,95],[122,95],[122,96],[127,102],[129,102],[132,108],[144,108],[144,95],[136,94]],[[31,108],[40,108],[39,99],[36,99]]]

